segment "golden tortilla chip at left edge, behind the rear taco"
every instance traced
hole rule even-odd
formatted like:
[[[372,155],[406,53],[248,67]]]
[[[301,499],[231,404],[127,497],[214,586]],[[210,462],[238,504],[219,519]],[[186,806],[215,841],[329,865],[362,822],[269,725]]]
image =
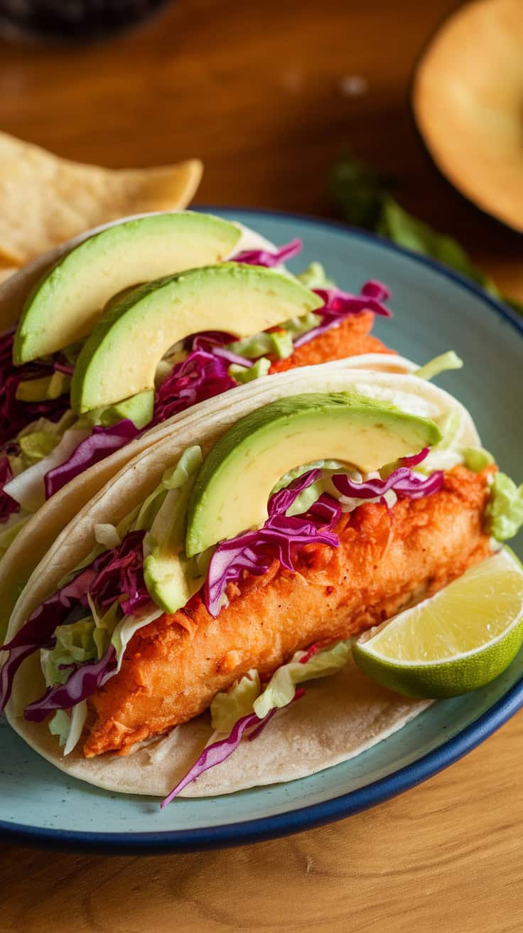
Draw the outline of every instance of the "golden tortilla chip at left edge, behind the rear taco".
[[[201,173],[198,159],[146,169],[84,165],[0,132],[0,274],[118,217],[186,207]]]

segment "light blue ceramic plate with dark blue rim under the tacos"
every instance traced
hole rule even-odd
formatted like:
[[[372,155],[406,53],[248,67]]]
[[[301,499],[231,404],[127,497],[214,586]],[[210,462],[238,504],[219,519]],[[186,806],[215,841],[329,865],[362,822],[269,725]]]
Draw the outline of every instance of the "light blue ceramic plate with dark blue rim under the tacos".
[[[301,236],[296,269],[320,259],[348,290],[372,278],[387,283],[395,318],[377,321],[378,337],[420,363],[448,349],[461,355],[465,368],[441,382],[470,409],[502,469],[519,476],[523,327],[515,314],[459,275],[365,233],[298,216],[215,213],[241,219],[277,244]],[[521,542],[516,550],[523,557]],[[375,806],[466,754],[523,705],[522,677],[523,652],[488,687],[435,703],[346,764],[291,784],[175,801],[163,812],[157,800],[71,780],[2,721],[0,832],[25,843],[131,853],[219,847],[318,826]]]

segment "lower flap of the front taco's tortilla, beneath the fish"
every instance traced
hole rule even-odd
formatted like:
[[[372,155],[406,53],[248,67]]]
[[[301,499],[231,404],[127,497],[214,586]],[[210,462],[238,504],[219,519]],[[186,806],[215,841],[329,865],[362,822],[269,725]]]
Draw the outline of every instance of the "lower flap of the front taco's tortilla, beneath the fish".
[[[293,781],[360,755],[401,729],[431,701],[411,700],[379,687],[349,661],[337,675],[306,685],[303,699],[283,709],[254,742],[186,787],[183,797],[216,797],[247,787]],[[200,716],[125,757],[64,758],[47,728],[9,719],[38,754],[95,787],[165,797],[199,757],[212,735]]]

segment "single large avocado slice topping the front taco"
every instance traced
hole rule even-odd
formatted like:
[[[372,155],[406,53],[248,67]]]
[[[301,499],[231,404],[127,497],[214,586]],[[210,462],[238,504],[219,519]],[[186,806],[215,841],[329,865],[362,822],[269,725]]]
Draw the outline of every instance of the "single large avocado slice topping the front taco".
[[[205,458],[188,505],[186,554],[263,524],[271,490],[296,466],[332,459],[369,473],[440,439],[430,419],[349,392],[272,402],[229,428]]]

